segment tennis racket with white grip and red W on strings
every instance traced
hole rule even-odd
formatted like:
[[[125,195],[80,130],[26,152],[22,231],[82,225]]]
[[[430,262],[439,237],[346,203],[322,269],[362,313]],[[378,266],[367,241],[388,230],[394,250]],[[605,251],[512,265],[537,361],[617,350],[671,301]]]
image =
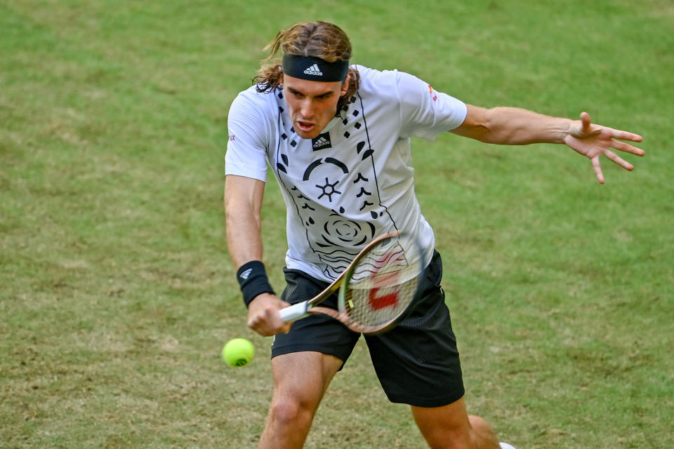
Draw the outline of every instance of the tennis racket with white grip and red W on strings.
[[[326,314],[355,332],[382,333],[395,326],[412,304],[423,262],[416,237],[398,231],[383,234],[368,243],[321,293],[281,309],[281,319],[290,323],[310,314]],[[338,309],[318,306],[336,292]]]

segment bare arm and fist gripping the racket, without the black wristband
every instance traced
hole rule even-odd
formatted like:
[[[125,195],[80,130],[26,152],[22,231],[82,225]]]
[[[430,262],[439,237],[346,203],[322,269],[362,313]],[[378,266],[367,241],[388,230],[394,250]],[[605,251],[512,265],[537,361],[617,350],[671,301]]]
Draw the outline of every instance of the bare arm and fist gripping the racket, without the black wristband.
[[[227,248],[239,269],[251,260],[262,260],[260,210],[265,183],[250,177],[227,175],[225,180],[225,216]],[[255,297],[248,308],[248,326],[260,335],[288,332],[290,325],[279,316],[288,304],[271,293]]]

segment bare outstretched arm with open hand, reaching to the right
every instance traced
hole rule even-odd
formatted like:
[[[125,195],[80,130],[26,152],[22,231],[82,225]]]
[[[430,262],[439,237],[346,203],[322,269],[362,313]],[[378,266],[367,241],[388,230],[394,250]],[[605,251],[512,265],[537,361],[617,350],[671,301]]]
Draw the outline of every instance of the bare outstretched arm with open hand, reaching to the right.
[[[633,170],[632,164],[612,152],[611,148],[637,156],[644,155],[642,149],[620,141],[641,142],[640,135],[596,125],[586,112],[581,114],[580,120],[571,120],[515,107],[484,109],[468,105],[463,124],[451,132],[500,145],[563,143],[592,161],[597,180],[602,184],[604,175],[599,156],[603,154],[626,170]]]

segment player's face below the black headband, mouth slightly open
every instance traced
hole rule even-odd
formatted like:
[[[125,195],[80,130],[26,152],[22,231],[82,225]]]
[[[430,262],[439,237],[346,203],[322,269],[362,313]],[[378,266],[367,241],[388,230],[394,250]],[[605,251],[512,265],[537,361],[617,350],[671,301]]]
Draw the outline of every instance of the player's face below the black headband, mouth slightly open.
[[[293,128],[303,139],[313,139],[337,113],[337,102],[346,95],[346,81],[310,81],[284,74],[283,95],[293,120]]]

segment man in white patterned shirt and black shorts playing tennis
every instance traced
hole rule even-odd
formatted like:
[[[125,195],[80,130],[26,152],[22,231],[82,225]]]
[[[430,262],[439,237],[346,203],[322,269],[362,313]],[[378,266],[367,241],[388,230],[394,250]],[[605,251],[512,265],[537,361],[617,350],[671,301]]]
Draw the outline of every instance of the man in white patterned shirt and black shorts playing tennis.
[[[435,91],[397,71],[350,65],[348,36],[326,22],[305,22],[277,34],[257,84],[232,103],[227,128],[227,244],[238,269],[248,325],[272,344],[274,392],[260,448],[300,448],[319,402],[359,334],[327,316],[292,324],[279,309],[308,300],[336,279],[368,241],[395,230],[418,236],[424,248],[422,294],[388,333],[366,335],[376,374],[392,402],[411,406],[432,448],[490,448],[491,426],[468,415],[463,380],[440,288],[435,236],[414,194],[410,138],[450,131],[482,142],[560,143],[592,162],[600,156],[632,170],[614,148],[637,156],[633,133],[524,109],[484,109]],[[260,209],[267,163],[286,203],[287,286],[277,297],[267,281]],[[332,303],[330,303],[332,301]],[[325,304],[333,300],[326,300]],[[501,443],[502,448],[512,446]]]

